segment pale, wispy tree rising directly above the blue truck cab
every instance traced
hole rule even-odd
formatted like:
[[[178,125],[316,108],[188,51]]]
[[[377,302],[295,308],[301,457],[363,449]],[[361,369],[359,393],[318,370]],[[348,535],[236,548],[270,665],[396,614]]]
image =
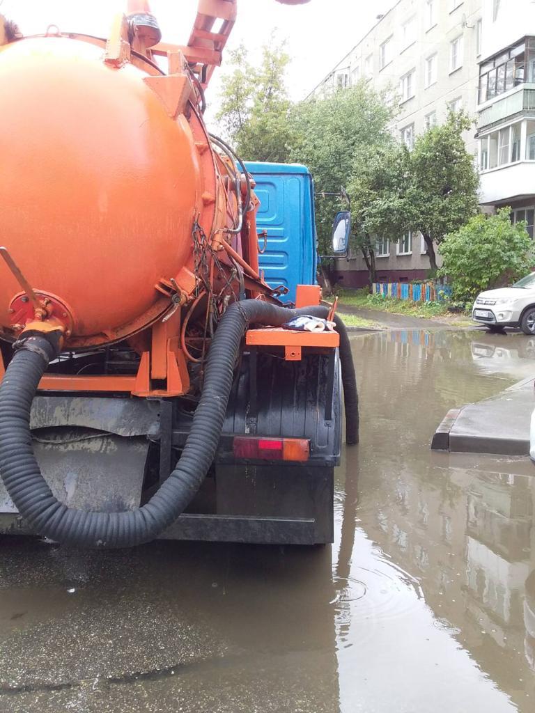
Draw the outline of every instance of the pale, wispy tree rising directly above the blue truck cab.
[[[284,162],[295,142],[285,71],[290,57],[275,36],[262,48],[258,66],[240,45],[230,53],[232,71],[223,76],[216,119],[245,160]]]

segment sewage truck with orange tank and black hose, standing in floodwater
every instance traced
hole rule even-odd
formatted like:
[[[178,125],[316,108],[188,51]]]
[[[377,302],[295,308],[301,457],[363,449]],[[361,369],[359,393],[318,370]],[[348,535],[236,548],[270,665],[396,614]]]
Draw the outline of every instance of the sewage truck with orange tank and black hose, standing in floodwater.
[[[355,371],[320,287],[260,267],[302,216],[266,238],[254,172],[205,125],[236,11],[200,0],[184,46],[141,0],[106,38],[0,17],[1,533],[332,541]]]

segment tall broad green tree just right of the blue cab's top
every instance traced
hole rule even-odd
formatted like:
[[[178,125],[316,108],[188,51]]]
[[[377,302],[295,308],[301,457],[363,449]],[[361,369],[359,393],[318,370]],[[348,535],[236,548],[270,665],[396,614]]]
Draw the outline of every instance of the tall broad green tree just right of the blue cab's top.
[[[335,198],[322,193],[337,193],[346,188],[353,175],[355,155],[389,141],[388,123],[394,107],[384,102],[365,81],[339,89],[325,99],[303,101],[291,116],[293,145],[290,160],[304,163],[312,173],[316,189],[318,249],[331,252],[332,220],[342,207]],[[354,221],[355,223],[355,221]]]

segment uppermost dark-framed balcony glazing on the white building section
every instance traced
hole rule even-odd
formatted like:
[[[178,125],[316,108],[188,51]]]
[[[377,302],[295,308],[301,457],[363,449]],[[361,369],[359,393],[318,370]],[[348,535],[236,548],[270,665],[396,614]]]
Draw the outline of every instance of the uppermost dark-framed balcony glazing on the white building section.
[[[535,81],[535,39],[526,37],[479,68],[479,103]]]

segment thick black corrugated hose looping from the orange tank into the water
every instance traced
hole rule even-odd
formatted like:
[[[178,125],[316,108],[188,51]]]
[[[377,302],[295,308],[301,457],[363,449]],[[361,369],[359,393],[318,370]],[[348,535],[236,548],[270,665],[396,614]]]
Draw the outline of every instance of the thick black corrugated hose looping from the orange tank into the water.
[[[37,533],[68,545],[121,548],[158,537],[183,513],[213,461],[245,330],[251,323],[277,327],[302,314],[326,317],[327,308],[287,309],[256,299],[235,302],[228,307],[210,347],[203,393],[175,470],[143,507],[120,513],[68,508],[54,497],[41,475],[31,445],[31,403],[41,376],[58,349],[51,337],[45,335],[31,334],[21,339],[0,386],[0,475],[19,513]],[[340,332],[347,442],[356,443],[355,370],[349,340],[340,320],[337,320],[337,330]]]

